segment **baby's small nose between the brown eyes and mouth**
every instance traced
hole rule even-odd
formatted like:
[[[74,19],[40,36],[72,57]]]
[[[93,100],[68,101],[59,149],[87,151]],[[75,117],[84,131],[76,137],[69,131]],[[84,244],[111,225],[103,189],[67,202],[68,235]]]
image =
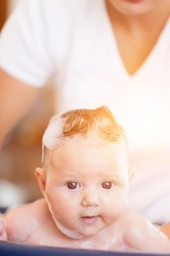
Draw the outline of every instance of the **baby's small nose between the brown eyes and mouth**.
[[[100,200],[98,198],[98,192],[94,191],[93,189],[88,189],[85,191],[84,195],[82,196],[82,206],[99,206]]]

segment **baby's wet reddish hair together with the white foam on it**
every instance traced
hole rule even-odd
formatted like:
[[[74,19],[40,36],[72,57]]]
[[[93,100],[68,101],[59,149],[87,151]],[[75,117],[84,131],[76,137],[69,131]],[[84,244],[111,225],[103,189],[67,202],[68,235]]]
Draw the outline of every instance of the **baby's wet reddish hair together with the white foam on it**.
[[[96,109],[76,109],[53,116],[42,139],[42,159],[47,150],[63,145],[68,138],[95,134],[104,142],[115,142],[125,133],[106,106]],[[126,138],[125,138],[126,140]]]

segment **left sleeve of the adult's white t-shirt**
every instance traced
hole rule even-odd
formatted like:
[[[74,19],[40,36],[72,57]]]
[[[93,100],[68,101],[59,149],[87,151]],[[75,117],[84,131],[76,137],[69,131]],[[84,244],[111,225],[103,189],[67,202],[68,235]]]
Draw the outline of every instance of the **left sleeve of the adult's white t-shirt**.
[[[30,86],[44,85],[53,74],[46,23],[45,1],[22,0],[0,34],[1,69]]]

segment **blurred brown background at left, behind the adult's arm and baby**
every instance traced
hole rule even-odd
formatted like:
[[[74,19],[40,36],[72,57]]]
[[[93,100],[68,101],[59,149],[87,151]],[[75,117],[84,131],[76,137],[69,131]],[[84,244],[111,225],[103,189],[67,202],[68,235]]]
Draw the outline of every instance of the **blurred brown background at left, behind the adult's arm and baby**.
[[[0,29],[20,0],[0,1]],[[1,33],[1,32],[0,32]],[[0,211],[42,195],[34,170],[41,166],[41,140],[53,115],[53,84],[48,83],[27,115],[4,141],[0,154]],[[24,169],[24,171],[23,171]]]

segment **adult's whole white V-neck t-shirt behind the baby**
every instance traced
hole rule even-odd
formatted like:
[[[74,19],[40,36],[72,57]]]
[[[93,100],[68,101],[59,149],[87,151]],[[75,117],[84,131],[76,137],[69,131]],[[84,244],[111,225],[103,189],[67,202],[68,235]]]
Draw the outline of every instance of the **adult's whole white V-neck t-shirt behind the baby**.
[[[104,0],[21,0],[0,37],[0,67],[32,86],[53,75],[56,109],[108,105],[135,169],[129,205],[170,220],[170,20],[132,76]]]

